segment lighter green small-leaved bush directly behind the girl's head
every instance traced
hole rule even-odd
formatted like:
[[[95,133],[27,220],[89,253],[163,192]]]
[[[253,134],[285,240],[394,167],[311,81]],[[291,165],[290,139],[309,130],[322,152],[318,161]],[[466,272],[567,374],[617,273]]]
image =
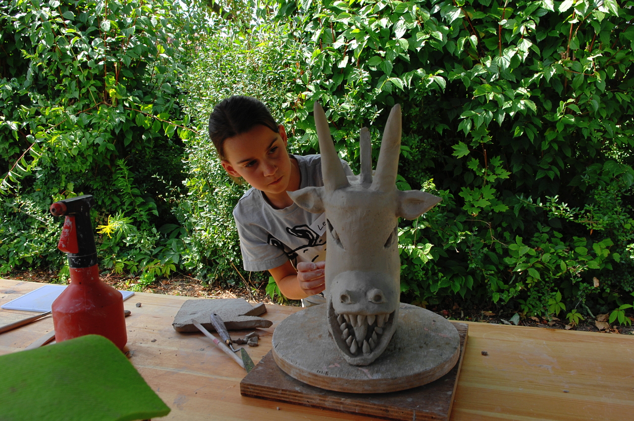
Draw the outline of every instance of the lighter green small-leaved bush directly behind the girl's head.
[[[238,272],[242,256],[232,214],[249,186],[233,183],[219,164],[207,133],[207,120],[219,101],[242,94],[264,101],[273,117],[283,121],[283,110],[297,100],[292,91],[303,71],[304,58],[301,47],[285,35],[288,27],[284,22],[262,23],[250,29],[222,16],[212,22],[219,30],[202,37],[183,82],[190,93],[185,109],[198,123],[198,133],[186,139],[189,193],[179,209],[191,233],[191,252],[201,257],[196,263],[198,273],[233,283],[238,276],[250,276]],[[296,144],[290,148],[298,150]],[[258,282],[268,280],[262,273],[256,276]]]

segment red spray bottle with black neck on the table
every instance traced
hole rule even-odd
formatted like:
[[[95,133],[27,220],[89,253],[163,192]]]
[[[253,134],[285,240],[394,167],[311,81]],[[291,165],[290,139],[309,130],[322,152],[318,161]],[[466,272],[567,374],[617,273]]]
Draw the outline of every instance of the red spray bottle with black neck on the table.
[[[123,297],[99,279],[90,209],[91,195],[60,200],[51,205],[53,216],[65,216],[58,249],[68,256],[70,285],[51,309],[55,341],[96,334],[123,349],[127,342]]]

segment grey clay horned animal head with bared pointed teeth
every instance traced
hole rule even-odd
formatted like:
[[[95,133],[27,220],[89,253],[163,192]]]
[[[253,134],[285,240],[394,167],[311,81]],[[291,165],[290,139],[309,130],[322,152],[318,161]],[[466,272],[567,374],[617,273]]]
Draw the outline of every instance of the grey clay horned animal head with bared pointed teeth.
[[[321,105],[314,105],[323,187],[289,191],[309,212],[326,212],[328,330],[346,361],[368,365],[392,339],[398,322],[401,261],[399,217],[414,219],[441,198],[396,188],[401,153],[401,106],[387,119],[375,174],[370,132],[361,129],[361,173],[347,177]]]

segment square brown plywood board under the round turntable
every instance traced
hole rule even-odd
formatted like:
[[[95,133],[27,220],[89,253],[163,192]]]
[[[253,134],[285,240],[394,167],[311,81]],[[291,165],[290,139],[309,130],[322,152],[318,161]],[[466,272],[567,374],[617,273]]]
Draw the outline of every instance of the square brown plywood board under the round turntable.
[[[453,325],[460,334],[458,363],[440,379],[413,389],[373,394],[327,391],[287,375],[276,365],[273,355],[269,352],[240,382],[240,393],[251,398],[387,420],[449,420],[469,330],[465,323]]]

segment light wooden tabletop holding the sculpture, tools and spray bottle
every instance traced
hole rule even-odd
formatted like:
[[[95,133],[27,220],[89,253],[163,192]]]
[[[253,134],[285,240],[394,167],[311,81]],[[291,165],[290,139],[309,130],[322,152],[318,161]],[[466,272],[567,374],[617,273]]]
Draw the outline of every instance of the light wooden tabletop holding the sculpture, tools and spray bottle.
[[[0,304],[41,283],[0,280]],[[174,315],[190,299],[136,293],[125,302],[131,361],[172,408],[161,420],[358,420],[371,418],[240,396],[245,372],[202,334],[179,334]],[[137,308],[135,303],[141,302]],[[257,363],[276,325],[296,307],[267,306]],[[0,325],[33,313],[0,310]],[[0,354],[53,328],[50,317],[0,335]],[[250,331],[235,332],[243,335]],[[482,355],[487,351],[488,355]],[[634,418],[634,336],[470,323],[451,420]]]

